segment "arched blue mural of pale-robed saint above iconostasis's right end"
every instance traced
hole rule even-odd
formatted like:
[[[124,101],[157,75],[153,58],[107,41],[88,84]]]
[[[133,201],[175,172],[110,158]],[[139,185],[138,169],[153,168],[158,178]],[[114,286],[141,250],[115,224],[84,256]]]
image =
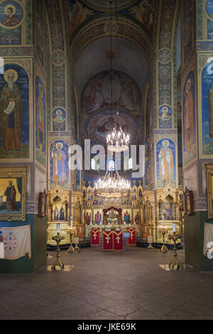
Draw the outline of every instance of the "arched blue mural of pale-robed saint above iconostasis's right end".
[[[157,186],[164,188],[170,183],[176,186],[175,144],[171,139],[161,139],[157,144]]]

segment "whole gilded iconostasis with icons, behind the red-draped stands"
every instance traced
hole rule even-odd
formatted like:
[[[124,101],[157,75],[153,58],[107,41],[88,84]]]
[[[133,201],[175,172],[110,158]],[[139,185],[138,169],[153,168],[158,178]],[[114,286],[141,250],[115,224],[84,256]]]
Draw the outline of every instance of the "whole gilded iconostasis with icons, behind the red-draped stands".
[[[57,225],[60,234],[65,237],[61,244],[70,244],[70,228],[75,227],[80,242],[91,236],[94,226],[111,228],[136,227],[136,236],[147,242],[148,235],[153,242],[163,243],[163,215],[165,216],[166,244],[173,244],[168,235],[173,232],[173,223],[180,231],[180,190],[171,185],[158,190],[144,190],[141,181],[133,181],[129,195],[115,198],[103,198],[89,182],[82,184],[82,191],[62,190],[55,187],[48,192],[48,244],[55,245],[52,237]],[[72,226],[70,225],[72,221]]]

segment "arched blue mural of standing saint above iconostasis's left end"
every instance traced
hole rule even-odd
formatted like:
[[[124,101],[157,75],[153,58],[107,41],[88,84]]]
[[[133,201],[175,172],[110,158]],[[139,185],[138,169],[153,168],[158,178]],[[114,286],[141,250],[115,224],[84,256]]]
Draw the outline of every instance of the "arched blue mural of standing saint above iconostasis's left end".
[[[50,146],[50,184],[60,188],[67,188],[69,181],[68,154],[69,147],[65,141],[55,141]]]

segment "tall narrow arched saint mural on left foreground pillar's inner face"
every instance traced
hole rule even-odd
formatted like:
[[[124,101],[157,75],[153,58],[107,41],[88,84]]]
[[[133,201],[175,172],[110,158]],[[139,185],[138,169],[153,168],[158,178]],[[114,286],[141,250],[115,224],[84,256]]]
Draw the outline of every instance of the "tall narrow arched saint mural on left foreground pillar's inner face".
[[[35,79],[35,157],[46,167],[46,102],[45,90],[40,77]]]

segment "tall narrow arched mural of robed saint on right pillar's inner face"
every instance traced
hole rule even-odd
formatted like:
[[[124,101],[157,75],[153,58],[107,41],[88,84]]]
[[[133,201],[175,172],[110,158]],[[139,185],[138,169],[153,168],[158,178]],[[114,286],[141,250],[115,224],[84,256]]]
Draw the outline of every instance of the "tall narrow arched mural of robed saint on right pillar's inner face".
[[[183,162],[186,165],[196,157],[195,73],[187,75],[182,94]]]

